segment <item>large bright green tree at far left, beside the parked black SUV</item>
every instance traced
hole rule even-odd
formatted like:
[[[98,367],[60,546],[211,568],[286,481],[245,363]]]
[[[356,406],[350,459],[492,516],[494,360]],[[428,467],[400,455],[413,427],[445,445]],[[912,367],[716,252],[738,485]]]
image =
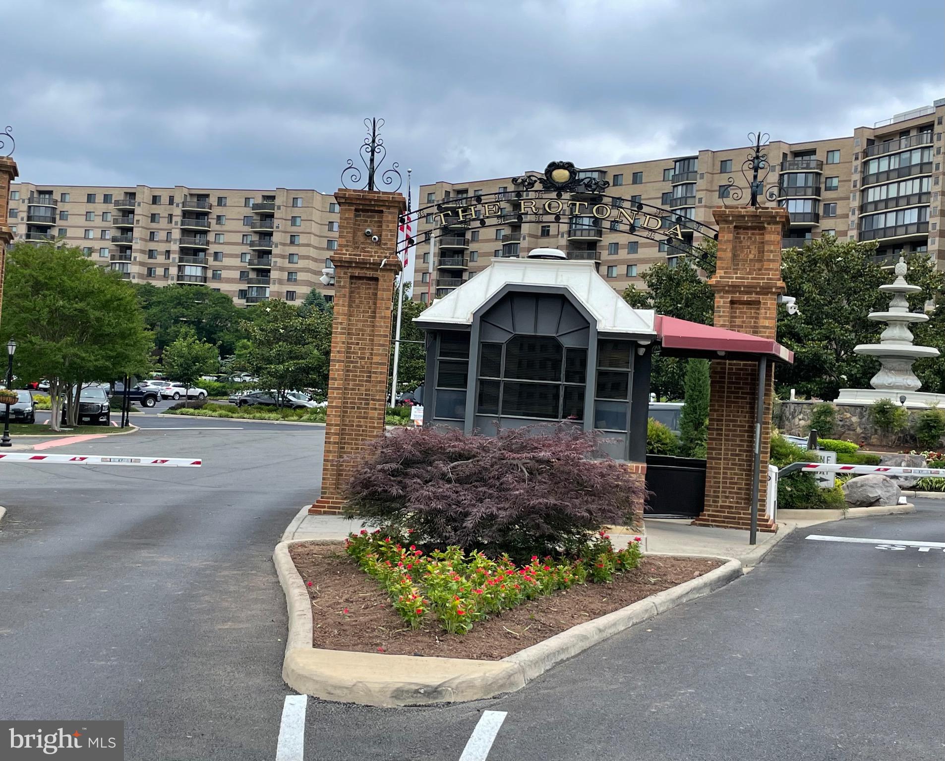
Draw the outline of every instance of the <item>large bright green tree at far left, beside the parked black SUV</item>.
[[[80,248],[13,245],[4,287],[2,341],[16,339],[19,378],[49,380],[53,431],[63,394],[75,425],[83,384],[146,373],[152,336],[134,289]]]

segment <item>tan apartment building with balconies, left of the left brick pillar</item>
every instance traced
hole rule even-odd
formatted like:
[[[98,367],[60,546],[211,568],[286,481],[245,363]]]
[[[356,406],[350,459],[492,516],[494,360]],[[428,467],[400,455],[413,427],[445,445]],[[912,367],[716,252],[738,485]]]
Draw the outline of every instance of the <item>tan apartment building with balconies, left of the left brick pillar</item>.
[[[15,240],[64,240],[134,282],[205,283],[239,305],[301,302],[337,248],[335,198],[313,190],[10,186]]]

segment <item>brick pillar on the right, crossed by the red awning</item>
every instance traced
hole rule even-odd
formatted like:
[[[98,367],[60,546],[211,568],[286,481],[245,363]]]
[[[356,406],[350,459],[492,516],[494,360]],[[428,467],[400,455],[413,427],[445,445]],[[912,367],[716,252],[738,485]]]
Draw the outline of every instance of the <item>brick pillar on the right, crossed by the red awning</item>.
[[[715,209],[718,264],[709,279],[716,328],[774,339],[781,279],[781,240],[789,222],[781,208]],[[758,364],[713,361],[705,509],[695,523],[747,529],[751,516]],[[774,368],[768,363],[762,420],[759,531],[777,531],[765,518]]]

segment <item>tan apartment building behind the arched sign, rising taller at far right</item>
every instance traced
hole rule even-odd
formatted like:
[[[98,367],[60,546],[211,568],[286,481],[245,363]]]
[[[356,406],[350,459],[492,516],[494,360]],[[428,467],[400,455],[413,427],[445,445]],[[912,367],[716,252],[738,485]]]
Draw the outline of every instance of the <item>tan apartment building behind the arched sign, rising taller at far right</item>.
[[[943,116],[945,98],[872,127],[856,127],[848,137],[768,144],[771,171],[765,178],[764,193],[775,194],[777,203],[791,215],[783,245],[803,245],[806,240],[832,234],[841,240],[876,241],[877,257],[883,263],[891,265],[901,254],[918,251],[928,252],[945,269],[945,241],[937,234],[943,221],[939,202]],[[692,156],[582,168],[581,175],[610,182],[605,193],[617,200],[611,197],[606,204],[650,204],[671,210],[674,217],[714,227],[713,208],[726,201],[730,205],[747,201],[748,182],[742,176],[742,164],[748,154],[748,147],[707,149]],[[516,173],[524,174],[539,173]],[[435,214],[422,217],[420,240],[423,233],[435,231],[436,247],[432,265],[427,245],[418,247],[422,262],[418,260],[415,273],[415,298],[427,301],[445,296],[487,267],[492,258],[523,256],[542,246],[565,250],[572,259],[598,262],[598,271],[618,291],[629,283],[641,284],[640,276],[654,262],[679,260],[679,249],[674,246],[629,236],[591,216],[565,213],[558,222],[547,218],[530,222],[527,215],[520,218],[522,199],[513,195],[516,186],[512,177],[421,186],[421,206],[446,203],[455,208],[464,198],[498,193],[500,220],[507,224],[478,228],[464,221],[441,228]],[[740,201],[732,197],[730,178],[746,192]],[[534,194],[525,193],[524,197],[529,195]],[[701,236],[687,230],[683,237],[687,243],[697,244]]]

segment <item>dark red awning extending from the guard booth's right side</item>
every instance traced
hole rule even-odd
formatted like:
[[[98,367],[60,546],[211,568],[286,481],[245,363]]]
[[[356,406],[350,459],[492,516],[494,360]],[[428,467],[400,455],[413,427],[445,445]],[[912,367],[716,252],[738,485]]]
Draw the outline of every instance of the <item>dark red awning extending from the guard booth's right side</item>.
[[[656,332],[662,353],[706,359],[769,359],[794,362],[794,352],[777,341],[736,330],[713,328],[677,317],[656,315]]]

